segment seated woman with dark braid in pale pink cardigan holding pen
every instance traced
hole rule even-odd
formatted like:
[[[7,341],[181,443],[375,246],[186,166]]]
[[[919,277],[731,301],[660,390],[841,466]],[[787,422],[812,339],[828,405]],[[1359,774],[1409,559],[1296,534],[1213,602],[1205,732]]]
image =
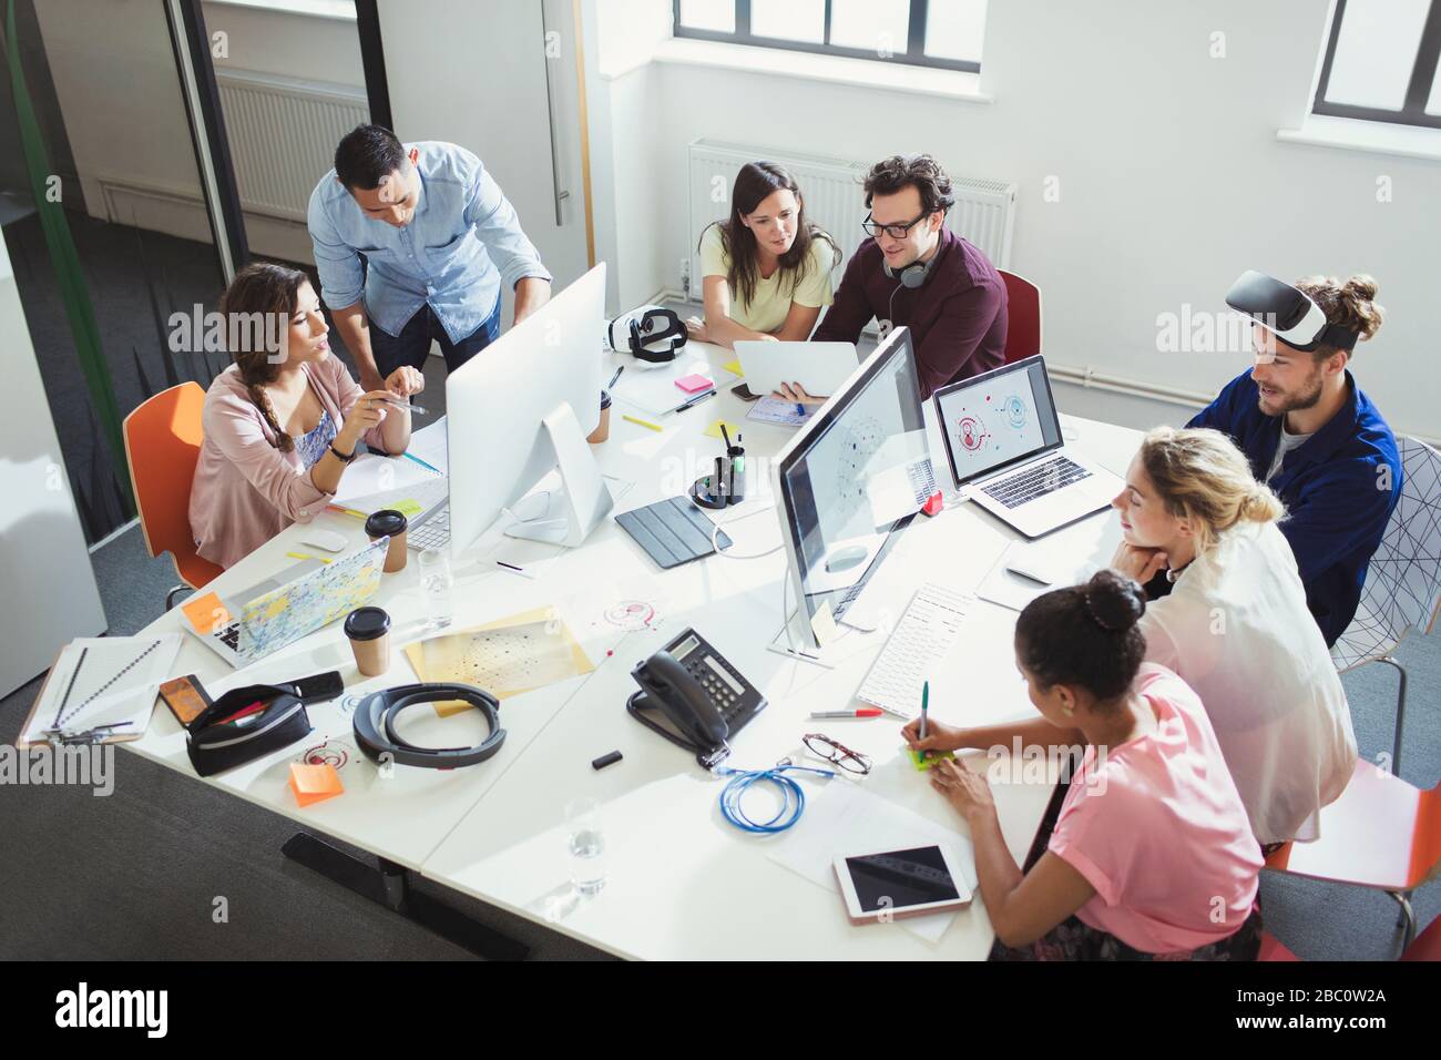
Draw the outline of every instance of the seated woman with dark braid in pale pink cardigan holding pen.
[[[220,299],[231,356],[205,395],[205,441],[190,486],[196,551],[229,567],[334,498],[356,444],[403,453],[411,394],[398,368],[363,392],[330,355],[330,330],[304,273],[252,264]]]

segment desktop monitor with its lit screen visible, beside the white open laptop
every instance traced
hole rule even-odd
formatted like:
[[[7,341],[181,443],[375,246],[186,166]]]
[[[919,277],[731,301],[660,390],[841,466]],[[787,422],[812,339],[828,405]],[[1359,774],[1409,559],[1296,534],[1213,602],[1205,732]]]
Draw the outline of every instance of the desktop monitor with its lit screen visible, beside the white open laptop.
[[[911,525],[929,493],[928,461],[911,332],[898,327],[775,460],[787,577],[807,645],[821,646],[817,626],[827,613],[844,616]]]

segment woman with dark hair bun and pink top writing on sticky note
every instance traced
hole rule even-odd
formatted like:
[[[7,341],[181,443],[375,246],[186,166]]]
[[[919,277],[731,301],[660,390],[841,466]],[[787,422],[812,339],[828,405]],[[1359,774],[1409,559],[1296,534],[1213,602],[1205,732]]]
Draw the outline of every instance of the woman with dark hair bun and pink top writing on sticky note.
[[[991,926],[993,960],[1252,960],[1261,852],[1196,694],[1143,665],[1141,587],[1114,571],[1033,600],[1016,622],[1016,663],[1040,711],[987,728],[919,723],[916,750],[1079,751],[1022,870],[990,786],[964,761],[931,783],[965,818]],[[993,767],[1004,769],[993,751]],[[1014,759],[1012,764],[1017,764]]]

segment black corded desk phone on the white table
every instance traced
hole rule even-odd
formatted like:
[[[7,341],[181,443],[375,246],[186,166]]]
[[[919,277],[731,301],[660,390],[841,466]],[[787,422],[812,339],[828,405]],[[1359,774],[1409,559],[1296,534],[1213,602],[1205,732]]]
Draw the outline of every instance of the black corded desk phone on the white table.
[[[641,689],[625,701],[631,717],[695,751],[706,769],[725,759],[726,741],[765,710],[765,697],[693,629],[638,663],[631,676]]]

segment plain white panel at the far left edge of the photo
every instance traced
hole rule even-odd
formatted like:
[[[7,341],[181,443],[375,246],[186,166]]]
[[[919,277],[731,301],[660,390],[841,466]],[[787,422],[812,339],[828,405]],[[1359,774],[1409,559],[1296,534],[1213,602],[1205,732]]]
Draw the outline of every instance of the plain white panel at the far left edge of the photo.
[[[61,443],[40,384],[10,252],[0,237],[0,697],[49,669],[78,636],[105,630],[85,534],[65,480]]]

